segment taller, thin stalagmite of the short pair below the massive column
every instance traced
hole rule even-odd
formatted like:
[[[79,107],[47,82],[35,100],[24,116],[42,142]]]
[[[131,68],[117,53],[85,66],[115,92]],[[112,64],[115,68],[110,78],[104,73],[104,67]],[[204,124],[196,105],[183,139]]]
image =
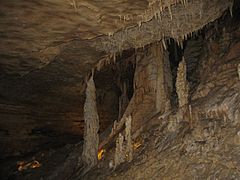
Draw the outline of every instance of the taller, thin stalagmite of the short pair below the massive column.
[[[125,122],[125,140],[127,141],[126,146],[126,155],[128,162],[132,161],[133,158],[133,148],[132,148],[132,135],[131,135],[131,128],[132,128],[132,116],[126,118]]]

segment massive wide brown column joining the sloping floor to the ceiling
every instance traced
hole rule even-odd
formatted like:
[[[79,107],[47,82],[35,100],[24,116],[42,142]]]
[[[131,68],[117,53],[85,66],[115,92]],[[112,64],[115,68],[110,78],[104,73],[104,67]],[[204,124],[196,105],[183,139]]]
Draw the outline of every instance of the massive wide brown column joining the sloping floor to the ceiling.
[[[132,115],[132,130],[135,132],[156,113],[171,108],[172,75],[168,52],[161,43],[136,52],[134,94],[124,116]]]

